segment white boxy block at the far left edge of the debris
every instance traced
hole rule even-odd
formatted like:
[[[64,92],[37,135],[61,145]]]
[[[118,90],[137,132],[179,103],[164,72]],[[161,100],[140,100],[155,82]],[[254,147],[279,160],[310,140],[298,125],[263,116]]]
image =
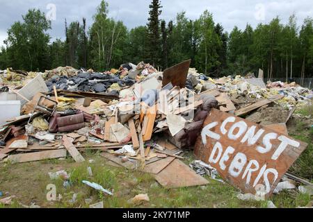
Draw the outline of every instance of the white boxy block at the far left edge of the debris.
[[[0,125],[20,116],[21,101],[0,101]]]

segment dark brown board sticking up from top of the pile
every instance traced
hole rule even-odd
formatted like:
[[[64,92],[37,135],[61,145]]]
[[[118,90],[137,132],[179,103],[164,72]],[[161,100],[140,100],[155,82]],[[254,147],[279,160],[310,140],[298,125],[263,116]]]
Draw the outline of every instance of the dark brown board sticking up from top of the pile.
[[[162,85],[172,83],[173,86],[184,88],[191,60],[186,60],[163,71]]]

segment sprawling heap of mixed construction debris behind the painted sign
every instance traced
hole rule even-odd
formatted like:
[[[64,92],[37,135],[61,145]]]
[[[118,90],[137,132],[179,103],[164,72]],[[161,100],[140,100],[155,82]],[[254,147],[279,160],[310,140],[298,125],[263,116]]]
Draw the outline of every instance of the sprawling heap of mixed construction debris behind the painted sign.
[[[212,79],[189,69],[190,62],[163,72],[143,62],[104,73],[72,67],[45,73],[0,71],[0,160],[31,162],[69,153],[76,162],[83,162],[81,153],[97,150],[113,164],[152,173],[163,187],[205,185],[208,181],[181,160],[184,150],[193,149],[197,142],[195,154],[206,163],[191,167],[213,178],[220,173],[207,162],[210,148],[203,150],[206,138],[220,137],[209,131],[214,123],[208,120],[211,114],[217,113],[218,118],[227,114],[230,122],[245,117],[287,136],[286,123],[294,110],[312,103],[312,90],[295,83],[268,83],[266,87],[262,78],[251,76]],[[283,114],[266,119],[277,110]],[[262,129],[262,125],[255,126]],[[247,139],[252,143],[254,137]],[[288,166],[304,150],[305,144],[301,146],[288,159]],[[224,160],[227,162],[227,155]],[[266,194],[278,182],[271,183]]]

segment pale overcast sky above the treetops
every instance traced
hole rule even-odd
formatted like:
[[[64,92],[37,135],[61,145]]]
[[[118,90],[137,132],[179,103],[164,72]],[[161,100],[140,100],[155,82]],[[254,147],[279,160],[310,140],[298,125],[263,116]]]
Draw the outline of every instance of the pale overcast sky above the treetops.
[[[52,39],[64,38],[64,19],[70,23],[81,21],[86,17],[87,24],[93,22],[93,15],[101,0],[0,0],[0,45],[7,37],[7,30],[19,20],[22,20],[29,8],[39,8],[52,18]],[[150,0],[107,0],[109,3],[109,17],[119,19],[128,28],[145,25],[147,23]],[[198,19],[204,10],[214,15],[214,21],[220,22],[225,31],[230,32],[234,26],[244,28],[247,23],[253,27],[258,23],[267,23],[276,15],[282,23],[287,23],[288,17],[295,14],[298,25],[305,17],[313,17],[312,0],[161,0],[163,12],[161,19],[167,22],[175,19],[177,12],[186,11],[190,19]],[[54,8],[56,9],[54,11]],[[54,13],[55,12],[55,13]],[[54,17],[55,15],[55,17]]]

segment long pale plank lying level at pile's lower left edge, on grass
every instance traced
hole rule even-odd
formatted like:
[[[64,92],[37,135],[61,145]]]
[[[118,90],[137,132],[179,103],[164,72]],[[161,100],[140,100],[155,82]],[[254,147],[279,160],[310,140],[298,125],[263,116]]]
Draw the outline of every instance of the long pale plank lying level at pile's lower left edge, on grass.
[[[13,163],[21,163],[21,162],[32,162],[38,160],[49,160],[56,159],[61,157],[66,157],[66,150],[60,149],[55,151],[41,151],[35,153],[23,153],[23,154],[15,154],[9,155],[6,158],[6,161],[10,161]]]

